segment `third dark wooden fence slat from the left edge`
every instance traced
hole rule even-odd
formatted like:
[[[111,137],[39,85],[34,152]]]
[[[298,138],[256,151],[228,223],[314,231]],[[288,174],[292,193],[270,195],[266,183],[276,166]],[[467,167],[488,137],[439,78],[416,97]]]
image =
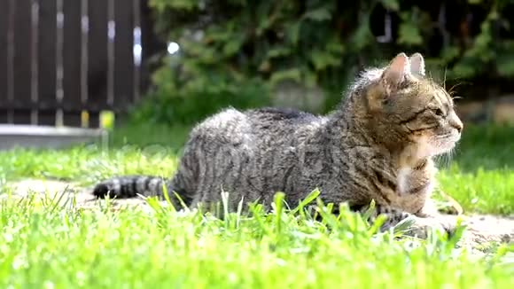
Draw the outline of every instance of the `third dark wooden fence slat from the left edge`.
[[[42,125],[55,125],[57,3],[40,1],[39,7],[39,118]]]

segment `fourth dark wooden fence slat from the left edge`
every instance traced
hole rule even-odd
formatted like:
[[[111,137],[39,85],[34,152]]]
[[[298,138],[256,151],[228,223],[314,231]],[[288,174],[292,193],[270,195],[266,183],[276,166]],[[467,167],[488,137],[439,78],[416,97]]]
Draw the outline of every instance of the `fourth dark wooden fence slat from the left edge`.
[[[64,1],[64,125],[81,126],[81,35],[80,1]]]

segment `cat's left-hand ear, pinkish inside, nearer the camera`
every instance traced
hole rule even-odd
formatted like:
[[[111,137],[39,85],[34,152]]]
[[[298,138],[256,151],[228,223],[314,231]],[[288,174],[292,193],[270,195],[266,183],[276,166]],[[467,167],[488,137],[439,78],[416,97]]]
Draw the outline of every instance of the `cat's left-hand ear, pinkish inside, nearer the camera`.
[[[385,67],[380,78],[380,82],[387,94],[397,90],[402,82],[405,82],[407,75],[410,74],[410,61],[403,52],[396,55],[389,65]]]

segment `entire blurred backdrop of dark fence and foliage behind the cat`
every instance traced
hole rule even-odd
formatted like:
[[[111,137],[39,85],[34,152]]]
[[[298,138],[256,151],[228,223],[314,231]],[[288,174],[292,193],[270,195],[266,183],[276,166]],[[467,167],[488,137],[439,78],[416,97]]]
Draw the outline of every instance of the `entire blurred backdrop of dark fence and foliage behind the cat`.
[[[514,1],[2,0],[0,123],[191,124],[232,105],[326,113],[421,52],[464,121],[514,120]],[[115,115],[115,118],[113,118]]]

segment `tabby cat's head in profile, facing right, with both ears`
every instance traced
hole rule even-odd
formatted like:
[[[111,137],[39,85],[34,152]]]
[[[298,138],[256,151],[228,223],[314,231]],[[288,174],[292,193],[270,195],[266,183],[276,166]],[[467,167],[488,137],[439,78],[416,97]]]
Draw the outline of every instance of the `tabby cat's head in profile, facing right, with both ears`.
[[[420,157],[451,151],[461,137],[463,122],[454,101],[440,84],[426,77],[419,53],[398,54],[370,72],[360,97],[373,134],[388,144],[416,145]]]

